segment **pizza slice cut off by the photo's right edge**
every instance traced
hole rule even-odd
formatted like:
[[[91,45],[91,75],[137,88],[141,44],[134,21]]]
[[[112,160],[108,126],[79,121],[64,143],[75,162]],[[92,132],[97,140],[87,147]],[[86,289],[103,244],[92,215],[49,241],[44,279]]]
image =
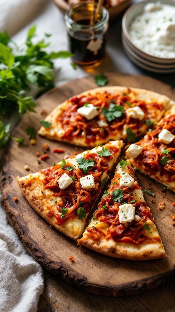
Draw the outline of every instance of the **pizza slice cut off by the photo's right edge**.
[[[140,172],[175,192],[175,105],[166,112],[155,129],[126,151]]]

